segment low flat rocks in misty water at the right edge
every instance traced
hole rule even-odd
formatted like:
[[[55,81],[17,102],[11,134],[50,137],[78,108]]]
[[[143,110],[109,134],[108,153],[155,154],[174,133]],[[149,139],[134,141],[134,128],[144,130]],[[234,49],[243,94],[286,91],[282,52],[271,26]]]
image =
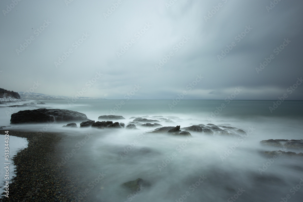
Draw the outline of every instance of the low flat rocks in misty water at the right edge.
[[[279,147],[279,149],[295,149],[298,151],[301,151],[303,149],[303,140],[262,140],[260,141],[260,144],[263,146],[270,146],[270,147]],[[303,157],[303,153],[296,153],[296,152],[285,152],[281,150],[276,151],[263,151],[263,154],[265,154],[267,157],[273,157],[273,156],[287,156],[287,157]]]

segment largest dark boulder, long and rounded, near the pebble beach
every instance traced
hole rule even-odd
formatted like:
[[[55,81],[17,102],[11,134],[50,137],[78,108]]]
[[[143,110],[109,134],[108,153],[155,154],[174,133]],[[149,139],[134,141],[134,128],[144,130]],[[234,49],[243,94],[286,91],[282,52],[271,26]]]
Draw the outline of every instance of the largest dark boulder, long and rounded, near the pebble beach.
[[[66,109],[34,109],[11,115],[11,124],[86,121],[85,114]]]

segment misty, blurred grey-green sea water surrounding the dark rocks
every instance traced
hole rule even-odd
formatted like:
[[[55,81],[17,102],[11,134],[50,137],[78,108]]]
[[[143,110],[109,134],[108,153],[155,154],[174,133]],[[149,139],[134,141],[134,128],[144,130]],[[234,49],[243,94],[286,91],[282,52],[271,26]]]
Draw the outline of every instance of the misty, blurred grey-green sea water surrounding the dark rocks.
[[[172,100],[125,100],[121,106],[120,100],[77,100],[72,105],[66,100],[34,102],[41,101],[46,107],[78,111],[95,121],[112,113],[123,116],[117,121],[125,125],[135,119],[131,117],[143,117],[163,126],[215,124],[246,132],[238,137],[190,132],[192,137],[183,137],[147,133],[155,128],[138,125],[137,130],[79,128],[80,122],[78,128],[62,128],[62,123],[12,125],[65,134],[58,145],[64,148],[58,166],[79,178],[80,201],[82,195],[105,202],[302,201],[303,159],[271,159],[262,151],[303,151],[260,144],[268,139],[303,139],[302,101],[284,101],[272,113],[273,101],[182,100],[171,109]],[[220,108],[221,104],[226,107]],[[2,125],[10,122],[9,109],[0,108]],[[11,111],[26,109],[35,108]],[[122,186],[138,178],[145,182],[142,190]]]

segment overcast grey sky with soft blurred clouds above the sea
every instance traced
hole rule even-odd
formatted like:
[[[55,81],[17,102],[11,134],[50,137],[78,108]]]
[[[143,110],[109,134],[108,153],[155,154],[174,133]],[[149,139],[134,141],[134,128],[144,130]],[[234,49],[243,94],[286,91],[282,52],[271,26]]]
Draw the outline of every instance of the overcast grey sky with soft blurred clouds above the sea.
[[[1,88],[106,99],[135,85],[132,99],[225,99],[240,88],[235,99],[303,99],[303,85],[288,89],[303,77],[301,0],[70,1],[0,2]]]

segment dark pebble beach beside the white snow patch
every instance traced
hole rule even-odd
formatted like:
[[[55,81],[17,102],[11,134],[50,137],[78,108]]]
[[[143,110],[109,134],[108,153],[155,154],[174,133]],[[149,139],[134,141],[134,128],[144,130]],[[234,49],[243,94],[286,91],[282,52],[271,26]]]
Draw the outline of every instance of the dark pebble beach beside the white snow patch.
[[[0,134],[5,134],[0,130]],[[62,133],[29,132],[9,130],[9,134],[25,137],[28,147],[13,157],[16,177],[9,180],[9,198],[2,201],[79,201],[76,200],[81,187],[79,179],[73,177],[64,166],[58,167],[62,149],[58,144],[65,136]],[[4,142],[4,140],[3,140]],[[2,194],[2,193],[1,193]],[[90,201],[85,197],[81,201]]]

